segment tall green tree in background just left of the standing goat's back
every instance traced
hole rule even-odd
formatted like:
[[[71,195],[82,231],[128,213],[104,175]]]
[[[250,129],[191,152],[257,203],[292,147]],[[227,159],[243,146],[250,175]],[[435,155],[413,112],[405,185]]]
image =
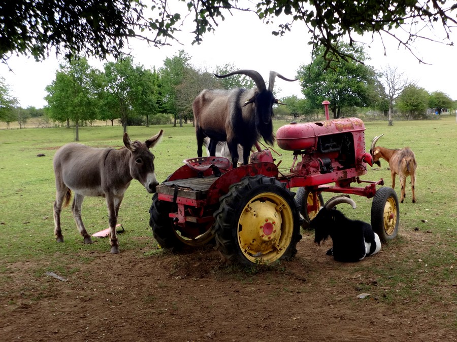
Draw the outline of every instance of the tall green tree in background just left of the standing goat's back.
[[[177,55],[172,58],[167,57],[164,61],[164,66],[159,70],[160,77],[160,108],[163,112],[169,113],[174,117],[174,127],[179,116],[180,126],[182,126],[181,111],[178,107],[178,87],[184,82],[190,65],[190,56],[180,50]]]

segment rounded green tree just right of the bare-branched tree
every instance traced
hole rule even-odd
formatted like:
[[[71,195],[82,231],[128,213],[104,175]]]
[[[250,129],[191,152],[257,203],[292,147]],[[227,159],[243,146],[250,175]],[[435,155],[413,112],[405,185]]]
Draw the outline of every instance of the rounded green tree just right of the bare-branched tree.
[[[428,107],[427,90],[410,84],[403,89],[396,101],[396,107],[408,119],[425,118]]]

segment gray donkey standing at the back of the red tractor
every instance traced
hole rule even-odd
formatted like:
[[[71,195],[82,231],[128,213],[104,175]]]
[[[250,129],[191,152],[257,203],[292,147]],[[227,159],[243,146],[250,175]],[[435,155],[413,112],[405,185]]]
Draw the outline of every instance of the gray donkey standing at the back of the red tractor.
[[[81,205],[85,196],[103,196],[108,207],[111,253],[119,253],[116,236],[119,206],[130,181],[137,179],[149,193],[155,192],[158,182],[154,173],[154,155],[149,148],[157,144],[164,132],[160,130],[145,142],[132,141],[125,133],[125,147],[94,148],[78,143],[60,147],[54,155],[56,200],[54,202],[54,234],[63,242],[60,211],[68,206],[75,193],[72,212],[84,243],[92,243],[81,219]]]

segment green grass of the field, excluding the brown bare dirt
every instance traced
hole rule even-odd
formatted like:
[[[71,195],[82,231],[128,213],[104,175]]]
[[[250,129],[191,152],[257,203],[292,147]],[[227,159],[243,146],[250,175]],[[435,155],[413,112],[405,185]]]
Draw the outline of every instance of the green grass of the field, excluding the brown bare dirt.
[[[276,122],[277,129],[285,122]],[[453,117],[434,121],[395,122],[388,127],[385,122],[367,122],[367,149],[375,135],[384,134],[378,145],[390,148],[410,146],[418,163],[416,198],[411,203],[411,189],[407,186],[405,203],[400,205],[399,238],[402,232],[426,231],[435,238],[429,246],[427,258],[433,259],[437,267],[449,277],[454,276],[457,243],[457,180],[455,178],[455,146],[457,145],[457,123]],[[159,181],[182,165],[186,158],[194,157],[196,143],[193,128],[129,127],[128,133],[134,140],[146,140],[159,129],[164,129],[162,141],[153,150],[156,156],[156,175]],[[66,243],[56,244],[53,236],[52,206],[55,196],[52,158],[56,149],[74,139],[74,130],[65,128],[0,130],[0,251],[2,267],[6,263],[25,259],[49,259],[58,252],[72,253],[80,248],[81,237],[76,230],[71,210],[62,212],[62,230]],[[121,127],[80,128],[81,143],[91,146],[122,146]],[[291,165],[291,153],[280,151],[280,168]],[[44,157],[37,157],[44,154]],[[369,168],[365,179],[384,178],[390,185],[387,163],[382,167]],[[409,178],[408,178],[409,184]],[[397,179],[397,193],[399,181]],[[328,196],[328,194],[326,194]],[[399,196],[400,197],[400,196]],[[325,196],[324,196],[325,199]],[[371,199],[354,198],[357,210],[343,210],[358,219],[369,221]],[[152,239],[148,210],[151,195],[142,185],[132,181],[120,208],[119,223],[126,232],[120,236],[122,250],[134,249],[143,253],[155,253],[158,246]],[[83,219],[89,234],[105,229],[107,211],[102,198],[86,198],[83,204]],[[108,243],[97,243],[94,248],[108,251]],[[58,260],[56,261],[58,262]],[[61,265],[64,267],[64,265]],[[0,270],[1,271],[1,270]]]

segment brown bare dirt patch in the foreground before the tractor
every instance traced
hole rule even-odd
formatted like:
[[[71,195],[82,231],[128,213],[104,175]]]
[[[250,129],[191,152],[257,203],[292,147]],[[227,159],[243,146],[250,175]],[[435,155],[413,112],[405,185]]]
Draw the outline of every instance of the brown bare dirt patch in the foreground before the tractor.
[[[213,250],[82,251],[91,261],[62,272],[66,282],[40,271],[49,264],[11,264],[0,288],[0,335],[26,341],[453,341],[455,284],[427,289],[433,272],[413,266],[417,246],[429,248],[428,238],[403,234],[404,243],[383,246],[358,263],[339,263],[325,255],[328,245],[316,246],[305,233],[291,261],[256,269],[223,264]],[[414,281],[393,287],[389,268],[405,267],[409,256]],[[403,296],[408,288],[419,290]],[[369,295],[357,298],[362,293]]]

